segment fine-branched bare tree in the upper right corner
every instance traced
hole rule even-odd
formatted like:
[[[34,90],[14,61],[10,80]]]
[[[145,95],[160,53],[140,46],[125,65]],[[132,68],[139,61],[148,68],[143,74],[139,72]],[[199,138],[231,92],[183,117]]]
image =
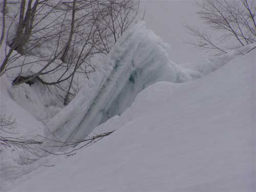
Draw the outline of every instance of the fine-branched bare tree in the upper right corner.
[[[256,2],[250,0],[202,0],[197,14],[212,31],[220,31],[217,39],[212,31],[185,26],[196,41],[189,42],[199,49],[215,51],[217,55],[238,49],[256,41]]]

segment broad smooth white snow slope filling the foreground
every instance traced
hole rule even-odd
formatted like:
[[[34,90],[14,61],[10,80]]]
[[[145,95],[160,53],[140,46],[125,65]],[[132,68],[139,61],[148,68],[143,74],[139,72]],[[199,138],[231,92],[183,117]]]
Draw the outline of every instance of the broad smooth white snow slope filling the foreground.
[[[255,191],[255,51],[195,81],[153,84],[94,131],[110,130],[12,191]]]

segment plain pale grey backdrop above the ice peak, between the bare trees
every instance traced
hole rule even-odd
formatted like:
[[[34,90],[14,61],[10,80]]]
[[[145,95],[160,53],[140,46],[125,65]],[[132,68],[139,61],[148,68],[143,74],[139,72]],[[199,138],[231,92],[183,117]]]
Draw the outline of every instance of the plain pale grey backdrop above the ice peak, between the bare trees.
[[[141,1],[140,8],[146,8],[146,26],[152,29],[164,42],[170,44],[172,60],[178,63],[195,61],[205,56],[203,51],[183,42],[192,38],[183,24],[203,26],[197,16],[197,6],[190,0]]]

